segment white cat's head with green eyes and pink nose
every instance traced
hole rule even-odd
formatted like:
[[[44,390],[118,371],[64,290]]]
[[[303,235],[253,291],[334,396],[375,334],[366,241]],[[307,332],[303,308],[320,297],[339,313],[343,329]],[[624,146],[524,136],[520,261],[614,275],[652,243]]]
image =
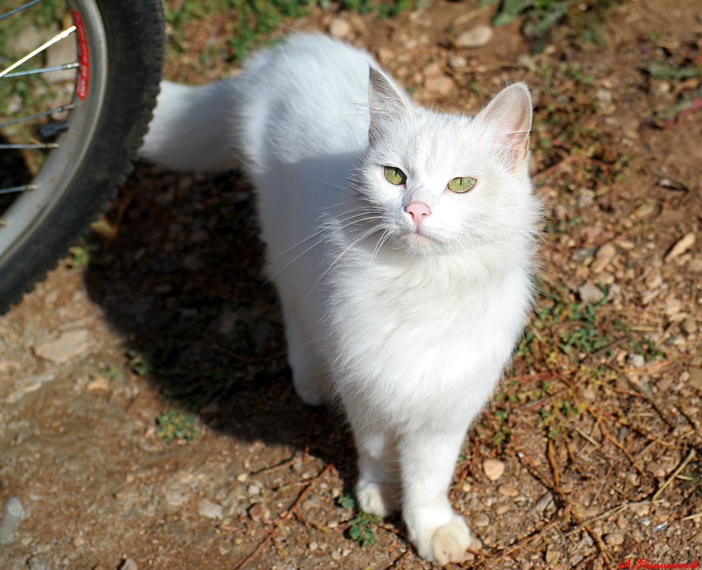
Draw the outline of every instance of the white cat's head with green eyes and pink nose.
[[[369,110],[368,150],[354,186],[381,214],[395,247],[489,253],[533,235],[526,84],[509,85],[467,117],[413,105],[371,68]]]

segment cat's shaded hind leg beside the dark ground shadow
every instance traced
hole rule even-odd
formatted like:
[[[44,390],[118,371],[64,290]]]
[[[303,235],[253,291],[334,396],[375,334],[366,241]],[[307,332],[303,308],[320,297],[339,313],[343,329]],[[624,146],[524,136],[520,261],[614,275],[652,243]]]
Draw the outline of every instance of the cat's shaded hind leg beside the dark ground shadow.
[[[285,307],[285,305],[283,305]],[[323,406],[329,401],[331,386],[314,341],[304,334],[294,315],[283,308],[287,361],[292,369],[292,384],[299,398],[309,406]]]

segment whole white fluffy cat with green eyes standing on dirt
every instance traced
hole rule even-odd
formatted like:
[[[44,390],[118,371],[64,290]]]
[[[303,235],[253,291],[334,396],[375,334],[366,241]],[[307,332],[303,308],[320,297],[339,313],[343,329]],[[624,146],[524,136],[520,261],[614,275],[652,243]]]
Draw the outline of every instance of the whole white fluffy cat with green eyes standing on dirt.
[[[523,83],[476,117],[447,115],[413,104],[365,51],[297,34],[235,78],[164,83],[142,149],[250,176],[295,389],[339,397],[359,505],[401,508],[437,564],[471,541],[447,490],[531,303],[530,130]]]

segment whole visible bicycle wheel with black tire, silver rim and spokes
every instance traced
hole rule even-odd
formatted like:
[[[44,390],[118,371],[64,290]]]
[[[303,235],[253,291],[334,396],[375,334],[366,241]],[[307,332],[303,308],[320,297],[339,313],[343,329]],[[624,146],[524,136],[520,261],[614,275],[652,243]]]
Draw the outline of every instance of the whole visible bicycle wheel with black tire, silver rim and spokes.
[[[158,0],[19,1],[0,9],[0,54],[16,52],[0,58],[0,312],[55,266],[126,178],[164,46]]]

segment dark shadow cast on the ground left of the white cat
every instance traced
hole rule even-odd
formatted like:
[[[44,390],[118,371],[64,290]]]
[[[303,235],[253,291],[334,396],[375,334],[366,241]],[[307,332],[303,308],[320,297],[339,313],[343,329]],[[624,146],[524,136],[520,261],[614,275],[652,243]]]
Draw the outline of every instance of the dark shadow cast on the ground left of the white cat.
[[[87,238],[86,283],[127,339],[122,366],[220,433],[333,461],[350,488],[355,452],[344,419],[292,388],[248,181],[139,164],[106,219]]]

